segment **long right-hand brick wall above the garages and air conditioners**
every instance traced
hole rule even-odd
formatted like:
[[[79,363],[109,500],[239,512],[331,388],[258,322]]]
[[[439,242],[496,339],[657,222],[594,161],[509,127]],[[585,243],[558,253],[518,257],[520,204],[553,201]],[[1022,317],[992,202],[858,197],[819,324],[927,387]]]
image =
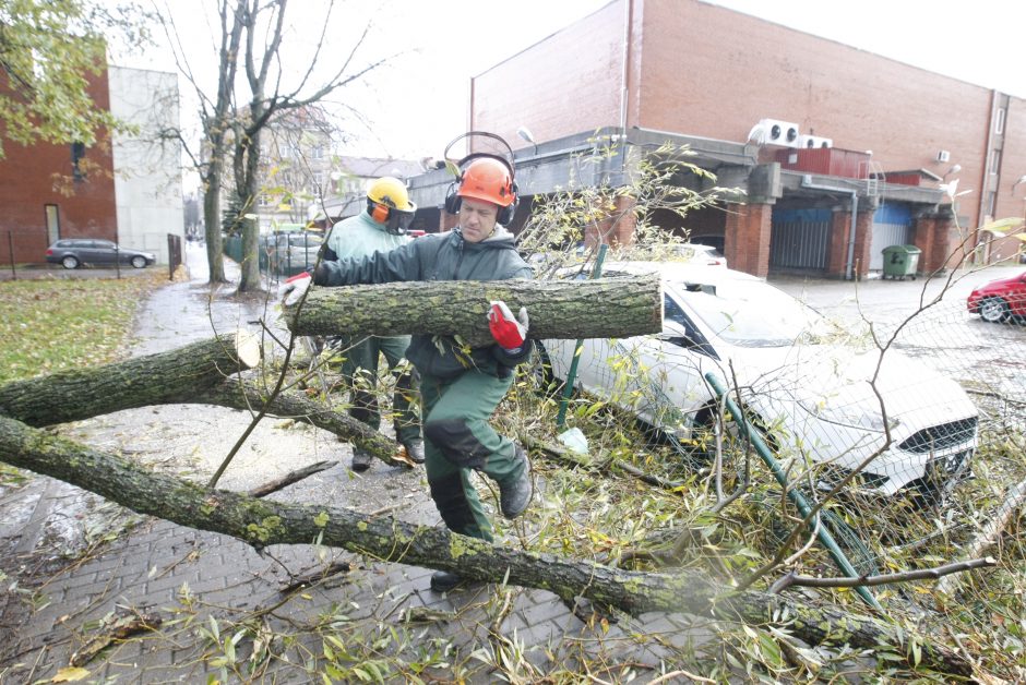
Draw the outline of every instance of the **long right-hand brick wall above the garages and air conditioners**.
[[[645,0],[644,27],[643,128],[741,141],[782,119],[884,169],[958,163],[980,188],[987,88],[694,0]]]

